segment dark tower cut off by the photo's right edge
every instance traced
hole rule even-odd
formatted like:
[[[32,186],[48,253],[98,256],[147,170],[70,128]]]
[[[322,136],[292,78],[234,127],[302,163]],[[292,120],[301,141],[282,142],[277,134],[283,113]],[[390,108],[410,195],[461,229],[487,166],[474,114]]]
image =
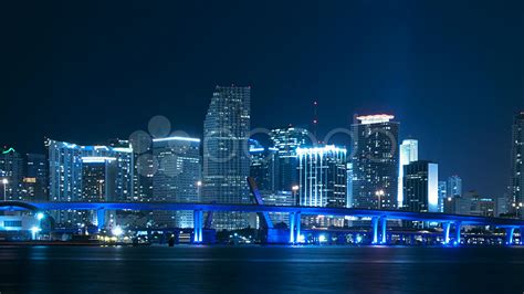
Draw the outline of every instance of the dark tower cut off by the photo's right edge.
[[[524,112],[517,114],[512,127],[512,174],[510,208],[524,219]]]

